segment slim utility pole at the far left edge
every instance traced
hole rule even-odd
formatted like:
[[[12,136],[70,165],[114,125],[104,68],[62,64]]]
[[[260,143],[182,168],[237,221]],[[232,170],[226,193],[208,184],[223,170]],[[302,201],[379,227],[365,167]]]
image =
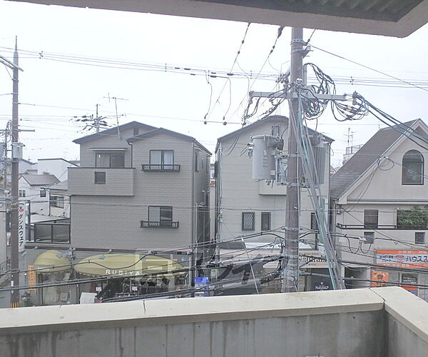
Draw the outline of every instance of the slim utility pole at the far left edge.
[[[19,180],[19,158],[14,154],[16,144],[19,142],[18,129],[18,40],[15,40],[14,52],[14,90],[12,94],[12,169],[11,169],[11,271],[12,286],[19,286],[19,242],[18,242],[18,180]],[[19,307],[19,290],[11,291],[11,307]]]

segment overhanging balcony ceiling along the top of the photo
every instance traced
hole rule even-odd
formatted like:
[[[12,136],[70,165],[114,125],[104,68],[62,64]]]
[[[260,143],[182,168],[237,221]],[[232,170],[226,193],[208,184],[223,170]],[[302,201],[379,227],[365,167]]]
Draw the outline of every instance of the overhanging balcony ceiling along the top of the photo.
[[[10,0],[405,37],[428,0]]]

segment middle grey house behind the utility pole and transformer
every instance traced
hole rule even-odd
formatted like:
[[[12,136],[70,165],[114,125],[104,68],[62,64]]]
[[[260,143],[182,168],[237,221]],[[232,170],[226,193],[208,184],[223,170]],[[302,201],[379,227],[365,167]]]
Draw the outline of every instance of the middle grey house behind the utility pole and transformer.
[[[215,239],[220,246],[220,255],[233,255],[234,250],[240,250],[243,247],[247,249],[248,256],[280,253],[279,243],[284,234],[282,227],[287,225],[285,222],[287,187],[277,186],[275,181],[253,180],[253,162],[248,155],[248,143],[250,143],[251,137],[264,134],[284,139],[282,154],[287,154],[288,119],[285,116],[269,116],[218,139],[215,149]],[[310,130],[310,135],[318,136],[320,134]],[[324,141],[325,146],[320,149],[320,154],[322,154],[320,158],[324,159],[319,160],[320,167],[318,168],[322,193],[319,200],[327,211],[330,176],[330,155],[328,153],[332,139],[324,136]],[[302,233],[305,233],[307,242],[301,243],[301,248],[306,250],[307,255],[320,258],[322,253],[318,250],[318,235],[311,231],[317,229],[315,216],[305,188],[302,188],[301,191],[300,227]],[[236,240],[237,237],[248,235],[254,236],[245,239],[245,244],[229,242],[233,239]],[[239,248],[236,246],[238,243],[241,243]],[[327,273],[325,261],[314,262],[312,260],[315,258],[302,261],[302,266],[305,269],[315,268],[320,269],[320,273]],[[267,263],[264,268],[261,268],[261,271],[275,268],[277,268],[277,262]],[[315,284],[315,278],[302,276],[299,284],[312,290],[310,287]]]

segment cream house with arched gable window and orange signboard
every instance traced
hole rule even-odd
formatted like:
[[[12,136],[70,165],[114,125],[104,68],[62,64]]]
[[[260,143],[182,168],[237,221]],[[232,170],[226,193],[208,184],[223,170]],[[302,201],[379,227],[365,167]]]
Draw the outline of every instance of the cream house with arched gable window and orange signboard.
[[[421,119],[380,129],[331,177],[331,223],[349,287],[404,283],[428,299],[417,286],[428,285],[428,150],[419,139],[427,136]]]

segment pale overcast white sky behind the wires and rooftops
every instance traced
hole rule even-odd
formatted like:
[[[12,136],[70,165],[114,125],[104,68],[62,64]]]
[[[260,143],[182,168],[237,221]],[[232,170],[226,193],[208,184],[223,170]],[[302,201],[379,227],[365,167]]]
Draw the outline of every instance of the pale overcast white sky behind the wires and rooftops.
[[[35,130],[21,132],[20,140],[24,158],[33,161],[78,159],[73,139],[93,130],[84,130],[77,119],[95,114],[96,104],[110,126],[141,121],[193,136],[214,151],[218,137],[240,128],[248,90],[278,88],[275,76],[290,61],[287,27],[267,61],[278,26],[1,0],[0,14],[1,56],[12,59],[18,36],[24,69],[19,73],[20,126]],[[304,38],[311,34],[305,29]],[[427,121],[427,38],[426,25],[404,39],[317,30],[310,41],[425,91],[315,48],[305,61],[332,76],[337,93],[358,91],[400,121]],[[235,76],[223,78],[230,72]],[[10,73],[0,68],[0,129],[11,119],[11,88]],[[250,121],[267,108],[265,101]],[[286,103],[277,114],[288,115]],[[315,122],[309,125],[315,128]],[[340,123],[328,109],[317,123],[318,131],[335,139],[333,166],[342,161],[348,132],[350,144],[358,145],[382,127],[370,116]]]

